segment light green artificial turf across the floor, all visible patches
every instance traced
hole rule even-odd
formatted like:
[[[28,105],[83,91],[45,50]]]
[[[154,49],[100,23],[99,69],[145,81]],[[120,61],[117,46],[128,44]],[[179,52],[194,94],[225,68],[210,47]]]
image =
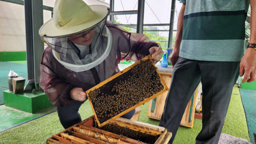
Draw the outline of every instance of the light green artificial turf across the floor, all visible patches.
[[[140,122],[158,126],[159,120],[147,118],[148,103],[139,106],[141,114]],[[82,120],[93,115],[89,101],[85,102],[80,108]],[[195,144],[195,138],[200,132],[202,122],[199,119],[194,120],[193,128],[180,126],[174,140],[174,144]],[[63,131],[57,112],[48,114],[26,124],[14,127],[0,133],[1,144],[42,144],[46,142],[53,134]],[[239,89],[234,87],[228,114],[226,116],[223,133],[235,137],[250,140],[247,128],[247,122]]]

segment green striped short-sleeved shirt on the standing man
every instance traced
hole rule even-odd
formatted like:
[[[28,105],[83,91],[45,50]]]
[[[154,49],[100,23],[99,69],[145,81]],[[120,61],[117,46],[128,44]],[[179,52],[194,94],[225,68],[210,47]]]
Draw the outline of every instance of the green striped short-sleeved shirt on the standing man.
[[[186,3],[180,57],[240,61],[249,0],[180,0]]]

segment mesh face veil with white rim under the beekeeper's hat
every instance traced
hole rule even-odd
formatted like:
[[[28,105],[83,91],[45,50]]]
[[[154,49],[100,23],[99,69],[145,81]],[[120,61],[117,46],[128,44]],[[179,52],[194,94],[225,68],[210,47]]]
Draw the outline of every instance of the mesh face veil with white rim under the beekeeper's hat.
[[[59,37],[48,37],[45,35],[43,36],[43,40],[52,48],[54,57],[61,65],[72,71],[82,72],[99,65],[109,55],[112,36],[105,23],[106,18],[95,26],[79,31],[78,33]],[[93,32],[94,35],[90,38],[92,39],[90,40],[91,44],[74,43],[81,41],[81,39],[82,41],[87,41],[88,39],[84,37],[92,35],[91,33]],[[69,37],[71,35],[72,39]],[[81,57],[80,50],[76,45],[85,45],[83,46],[86,49],[85,57]]]

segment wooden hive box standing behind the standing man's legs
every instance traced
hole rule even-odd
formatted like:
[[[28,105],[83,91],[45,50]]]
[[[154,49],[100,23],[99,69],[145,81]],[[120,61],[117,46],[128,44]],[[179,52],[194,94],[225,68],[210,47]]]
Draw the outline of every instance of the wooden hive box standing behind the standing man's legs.
[[[166,85],[169,87],[171,85],[172,74],[167,72],[160,72],[160,74],[164,79]],[[161,119],[167,93],[168,92],[165,92],[160,96],[158,96],[157,98],[150,100],[148,104],[148,113],[147,113],[148,118],[153,118],[156,120]],[[187,104],[186,110],[180,122],[181,126],[186,126],[191,128],[193,127],[197,95],[198,95],[198,87],[195,90],[194,95],[191,97],[189,103]]]

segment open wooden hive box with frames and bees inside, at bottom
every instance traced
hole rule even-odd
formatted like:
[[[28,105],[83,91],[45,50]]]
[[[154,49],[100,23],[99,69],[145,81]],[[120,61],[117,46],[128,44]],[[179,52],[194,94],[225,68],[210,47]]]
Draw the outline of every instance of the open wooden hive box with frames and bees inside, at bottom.
[[[98,127],[95,116],[46,140],[46,144],[167,144],[172,133],[164,127],[117,118]]]

